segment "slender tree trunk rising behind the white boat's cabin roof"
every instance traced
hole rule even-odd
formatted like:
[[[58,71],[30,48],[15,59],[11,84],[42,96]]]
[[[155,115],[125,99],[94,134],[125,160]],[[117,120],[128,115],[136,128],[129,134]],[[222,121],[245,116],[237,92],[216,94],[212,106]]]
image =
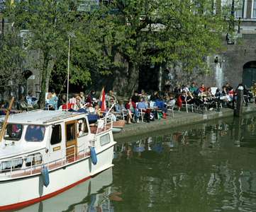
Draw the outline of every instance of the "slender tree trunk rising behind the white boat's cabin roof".
[[[48,52],[47,54],[48,55]],[[40,93],[40,98],[39,98],[39,102],[40,102],[40,109],[44,109],[45,107],[45,91],[46,91],[46,80],[47,80],[47,76],[48,76],[48,63],[49,60],[46,58],[44,58],[43,61],[43,71],[42,71],[42,81],[41,81],[41,93]]]

